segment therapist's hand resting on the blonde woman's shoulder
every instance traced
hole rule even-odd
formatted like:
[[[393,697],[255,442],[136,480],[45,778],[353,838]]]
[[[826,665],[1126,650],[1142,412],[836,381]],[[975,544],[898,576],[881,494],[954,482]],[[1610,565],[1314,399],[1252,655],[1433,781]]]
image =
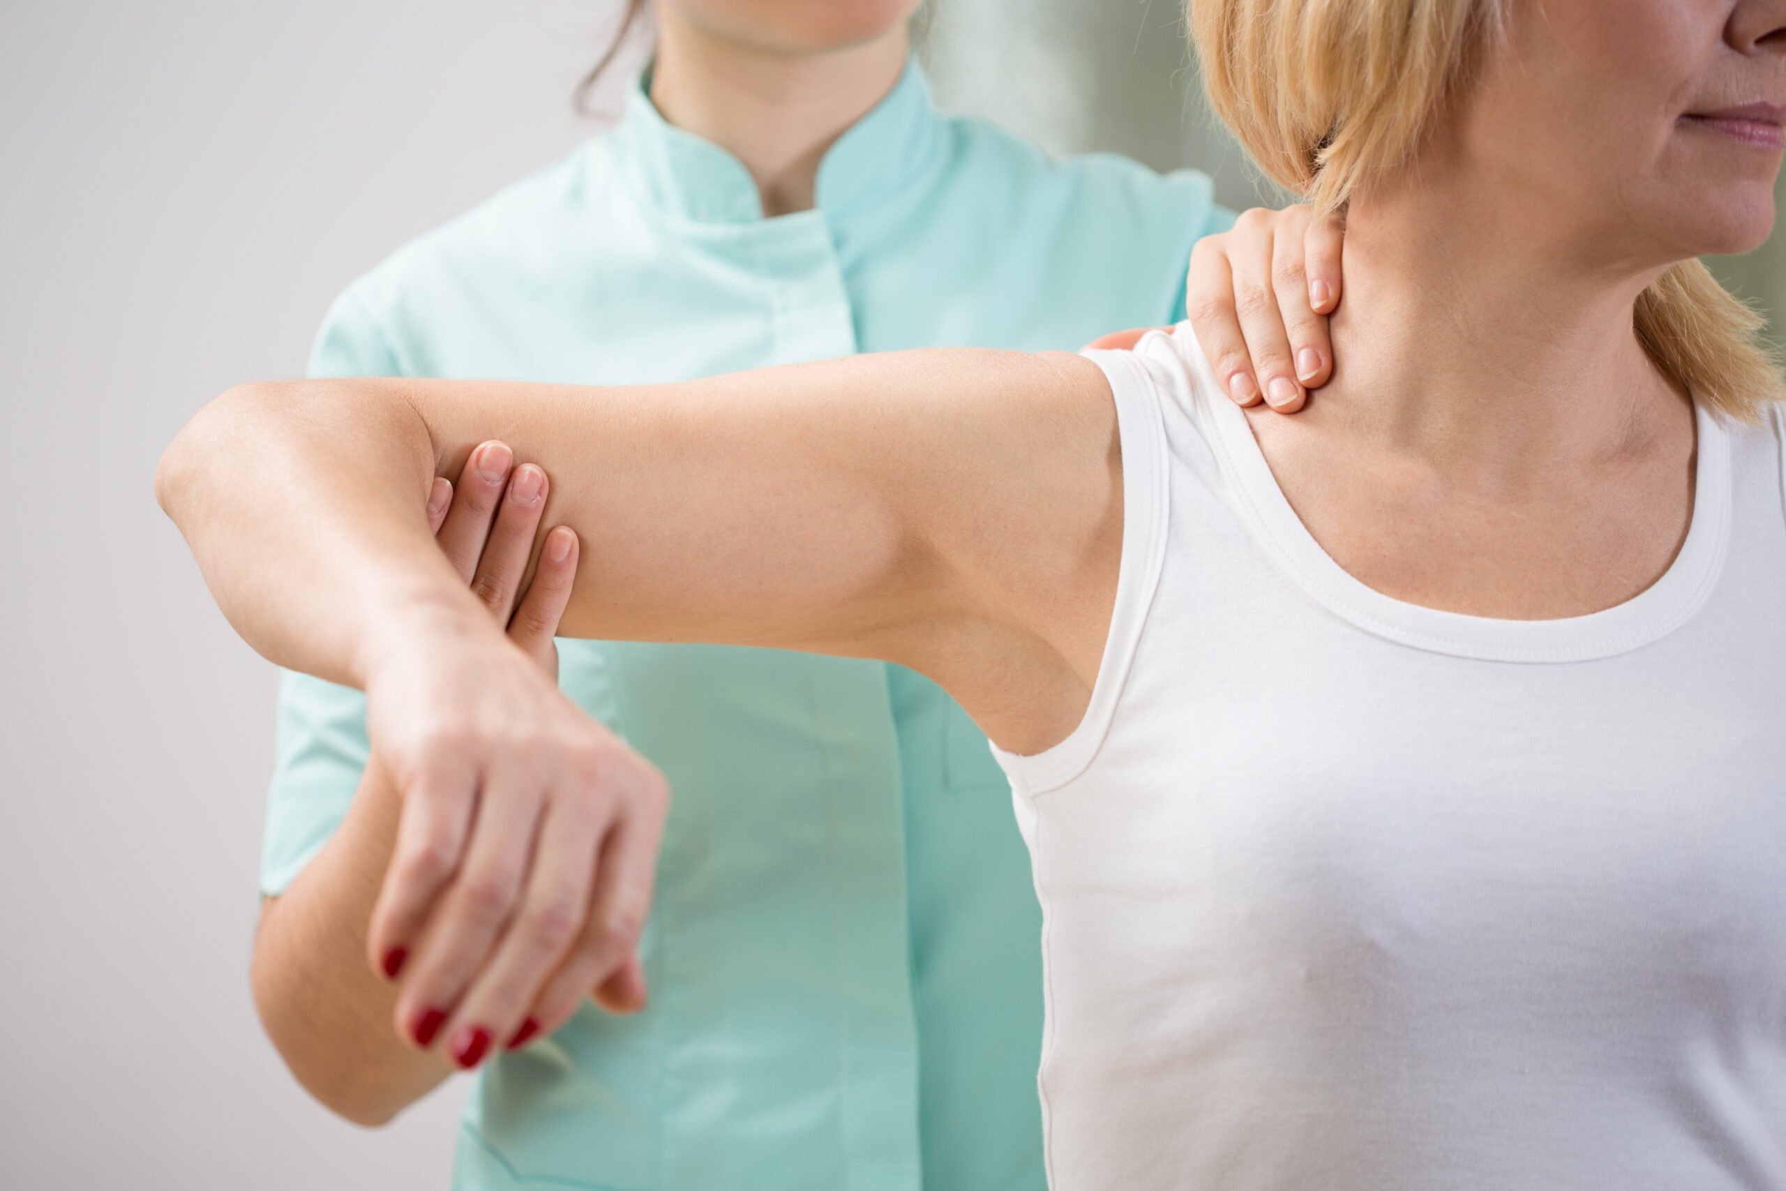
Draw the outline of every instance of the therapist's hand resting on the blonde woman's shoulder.
[[[1298,204],[1254,207],[1232,230],[1191,250],[1184,309],[1216,379],[1238,405],[1261,400],[1291,414],[1332,377],[1327,316],[1340,305],[1340,216]],[[1132,348],[1147,330],[1120,330],[1093,348]]]

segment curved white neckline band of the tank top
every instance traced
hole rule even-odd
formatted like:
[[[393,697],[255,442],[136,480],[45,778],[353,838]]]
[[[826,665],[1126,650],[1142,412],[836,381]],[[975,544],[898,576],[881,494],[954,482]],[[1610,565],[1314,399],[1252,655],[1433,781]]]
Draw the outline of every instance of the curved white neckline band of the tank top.
[[[1434,654],[1498,662],[1615,657],[1659,641],[1691,620],[1723,571],[1731,536],[1731,443],[1718,416],[1695,404],[1698,441],[1686,539],[1661,579],[1632,598],[1584,616],[1498,620],[1388,596],[1356,579],[1314,541],[1279,487],[1247,414],[1214,387],[1195,339],[1179,343],[1179,352],[1193,370],[1193,400],[1214,421],[1211,437],[1248,529],[1311,598],[1379,637]]]

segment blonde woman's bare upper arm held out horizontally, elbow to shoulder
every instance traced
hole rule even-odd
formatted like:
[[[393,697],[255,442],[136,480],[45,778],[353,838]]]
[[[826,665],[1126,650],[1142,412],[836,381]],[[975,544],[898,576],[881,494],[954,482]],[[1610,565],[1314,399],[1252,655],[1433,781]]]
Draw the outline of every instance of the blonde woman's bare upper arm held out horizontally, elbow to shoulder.
[[[1089,652],[1095,671],[1082,605],[1114,577],[1122,486],[1109,389],[1082,357],[405,391],[443,475],[488,437],[547,470],[541,532],[582,537],[564,636],[884,657],[957,698],[1027,654]]]

